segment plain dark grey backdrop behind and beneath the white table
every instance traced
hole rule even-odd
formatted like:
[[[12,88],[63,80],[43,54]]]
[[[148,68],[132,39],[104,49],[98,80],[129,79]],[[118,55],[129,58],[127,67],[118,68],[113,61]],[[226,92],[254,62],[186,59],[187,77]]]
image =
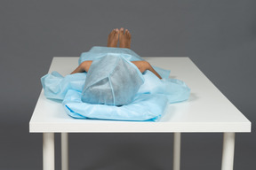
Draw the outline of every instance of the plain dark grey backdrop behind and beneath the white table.
[[[235,170],[255,169],[256,1],[0,1],[0,169],[42,169],[28,122],[53,56],[132,33],[140,56],[190,57],[252,121],[236,135]],[[193,89],[192,89],[193,90]],[[70,169],[172,169],[172,134],[71,134]],[[183,134],[181,169],[220,169],[221,134]],[[60,169],[60,135],[56,135]]]

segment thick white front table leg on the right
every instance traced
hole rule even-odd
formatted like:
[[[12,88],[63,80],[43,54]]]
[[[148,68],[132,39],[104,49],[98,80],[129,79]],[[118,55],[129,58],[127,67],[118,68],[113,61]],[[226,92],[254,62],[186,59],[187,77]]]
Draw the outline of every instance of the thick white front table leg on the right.
[[[224,133],[221,170],[233,170],[235,133]]]

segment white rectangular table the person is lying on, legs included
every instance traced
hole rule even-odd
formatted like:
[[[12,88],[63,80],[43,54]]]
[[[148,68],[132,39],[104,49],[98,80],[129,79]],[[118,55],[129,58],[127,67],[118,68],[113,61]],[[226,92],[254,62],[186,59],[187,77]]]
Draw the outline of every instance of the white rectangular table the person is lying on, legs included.
[[[189,58],[145,58],[151,65],[171,69],[171,78],[191,89],[188,101],[170,104],[158,122],[76,120],[43,90],[29,122],[30,133],[43,133],[44,170],[54,169],[54,133],[61,133],[62,170],[68,170],[68,133],[174,133],[173,170],[180,169],[180,133],[224,133],[222,170],[232,170],[235,133],[251,132],[251,122],[223,96]],[[78,58],[53,58],[49,72],[71,73]]]

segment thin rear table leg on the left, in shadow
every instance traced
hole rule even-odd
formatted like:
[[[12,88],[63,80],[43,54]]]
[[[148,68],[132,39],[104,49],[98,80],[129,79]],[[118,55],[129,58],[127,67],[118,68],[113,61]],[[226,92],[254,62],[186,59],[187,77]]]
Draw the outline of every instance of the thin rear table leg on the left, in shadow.
[[[68,133],[61,133],[61,167],[68,170]]]

